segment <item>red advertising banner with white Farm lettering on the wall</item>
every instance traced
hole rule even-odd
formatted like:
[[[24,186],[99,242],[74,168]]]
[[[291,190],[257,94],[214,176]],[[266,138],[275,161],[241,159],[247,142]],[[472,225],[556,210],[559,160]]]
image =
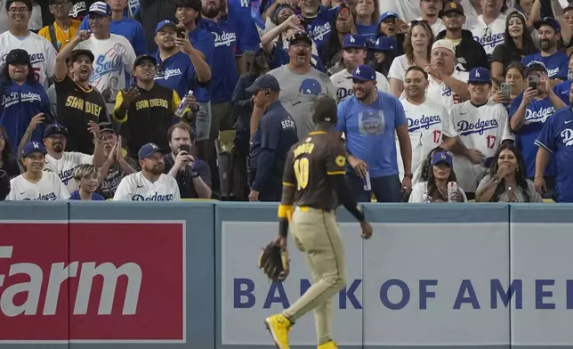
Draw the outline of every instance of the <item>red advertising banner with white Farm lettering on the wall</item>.
[[[184,342],[184,223],[1,223],[1,342]]]

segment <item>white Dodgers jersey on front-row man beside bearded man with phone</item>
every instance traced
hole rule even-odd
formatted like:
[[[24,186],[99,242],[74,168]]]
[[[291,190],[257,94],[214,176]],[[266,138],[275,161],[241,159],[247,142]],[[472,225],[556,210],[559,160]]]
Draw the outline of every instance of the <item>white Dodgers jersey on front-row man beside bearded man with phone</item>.
[[[155,183],[149,182],[143,172],[126,175],[117,186],[114,201],[181,201],[177,181],[171,175],[161,174]]]

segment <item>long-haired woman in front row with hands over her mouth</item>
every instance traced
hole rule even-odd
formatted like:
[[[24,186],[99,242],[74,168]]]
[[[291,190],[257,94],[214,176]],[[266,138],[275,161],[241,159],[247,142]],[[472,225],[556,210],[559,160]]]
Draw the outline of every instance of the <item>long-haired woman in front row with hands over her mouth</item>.
[[[528,169],[512,143],[502,143],[475,192],[477,202],[543,202],[528,179]]]

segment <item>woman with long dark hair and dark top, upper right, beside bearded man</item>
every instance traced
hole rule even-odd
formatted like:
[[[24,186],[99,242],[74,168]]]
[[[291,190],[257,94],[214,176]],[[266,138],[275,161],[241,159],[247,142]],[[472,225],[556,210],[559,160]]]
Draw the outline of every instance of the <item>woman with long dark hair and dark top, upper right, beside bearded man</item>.
[[[520,12],[512,12],[505,19],[505,41],[497,45],[491,55],[491,77],[505,81],[504,71],[512,61],[532,53],[538,53],[529,29],[528,23]]]

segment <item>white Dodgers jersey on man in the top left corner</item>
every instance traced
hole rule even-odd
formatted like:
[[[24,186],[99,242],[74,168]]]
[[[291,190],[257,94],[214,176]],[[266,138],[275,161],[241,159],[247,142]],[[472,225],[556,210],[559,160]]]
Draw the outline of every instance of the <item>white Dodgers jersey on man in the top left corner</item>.
[[[4,31],[0,34],[0,54],[2,54],[2,64],[6,55],[12,50],[20,48],[28,53],[30,64],[34,69],[38,82],[48,88],[48,79],[53,77],[56,67],[56,50],[52,44],[44,37],[40,37],[35,33],[29,32],[28,37],[20,40],[14,37],[10,31]]]

